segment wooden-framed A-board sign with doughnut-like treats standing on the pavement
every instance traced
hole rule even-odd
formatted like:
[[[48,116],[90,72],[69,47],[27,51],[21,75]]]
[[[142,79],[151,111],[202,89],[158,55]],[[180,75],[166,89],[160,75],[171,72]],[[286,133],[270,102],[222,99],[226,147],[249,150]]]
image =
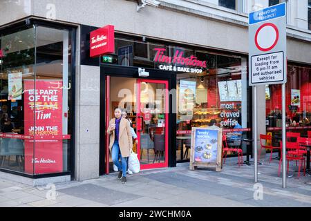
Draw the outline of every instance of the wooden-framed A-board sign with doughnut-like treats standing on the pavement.
[[[216,126],[192,128],[190,170],[198,166],[221,171],[222,134],[223,129]]]

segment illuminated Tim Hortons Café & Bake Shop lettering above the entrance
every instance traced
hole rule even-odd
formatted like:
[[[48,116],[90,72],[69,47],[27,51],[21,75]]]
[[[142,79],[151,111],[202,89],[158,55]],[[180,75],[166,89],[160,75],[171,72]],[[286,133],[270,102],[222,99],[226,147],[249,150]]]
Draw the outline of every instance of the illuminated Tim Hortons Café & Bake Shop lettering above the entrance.
[[[176,50],[173,57],[164,55],[165,48],[154,48],[156,55],[154,61],[160,64],[160,70],[178,71],[184,73],[202,73],[202,68],[206,68],[206,61],[200,61],[194,55],[184,57],[184,52]]]

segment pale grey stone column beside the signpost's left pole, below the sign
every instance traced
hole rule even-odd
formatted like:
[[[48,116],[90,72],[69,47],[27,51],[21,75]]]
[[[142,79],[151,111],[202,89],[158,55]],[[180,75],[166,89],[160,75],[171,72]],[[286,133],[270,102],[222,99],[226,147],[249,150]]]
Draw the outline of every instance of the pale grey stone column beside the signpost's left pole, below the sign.
[[[253,106],[254,106],[254,88],[253,88]],[[254,113],[254,112],[253,112]],[[258,115],[258,122],[257,122],[257,151],[261,148],[260,143],[260,134],[265,134],[265,85],[257,86],[257,115]],[[254,115],[253,115],[253,122],[254,122]],[[254,125],[254,124],[253,124]],[[254,128],[253,128],[254,133]],[[254,137],[254,135],[253,135]],[[255,148],[253,148],[255,150]],[[259,154],[259,152],[258,152]],[[261,151],[261,159],[263,159],[265,155],[265,150]],[[259,155],[258,155],[259,157]]]

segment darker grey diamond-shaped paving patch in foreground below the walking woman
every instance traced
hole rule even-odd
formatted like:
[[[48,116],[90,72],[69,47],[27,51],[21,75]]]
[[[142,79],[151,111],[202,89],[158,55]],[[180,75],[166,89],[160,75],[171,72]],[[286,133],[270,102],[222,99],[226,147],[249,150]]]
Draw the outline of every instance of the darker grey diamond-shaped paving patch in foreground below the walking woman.
[[[124,184],[124,186],[125,185],[126,184]],[[94,202],[100,202],[107,205],[117,204],[140,198],[140,195],[135,195],[133,193],[124,193],[122,191],[115,191],[94,184],[82,184],[81,186],[62,189],[60,190],[60,192],[66,193],[67,195],[73,195],[77,198],[92,200]]]

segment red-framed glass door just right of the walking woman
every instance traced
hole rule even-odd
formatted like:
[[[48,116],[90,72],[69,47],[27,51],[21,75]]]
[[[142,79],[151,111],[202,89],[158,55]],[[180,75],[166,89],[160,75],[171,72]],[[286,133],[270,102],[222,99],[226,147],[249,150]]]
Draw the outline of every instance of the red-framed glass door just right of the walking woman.
[[[141,169],[168,166],[168,81],[137,81],[137,153]]]

